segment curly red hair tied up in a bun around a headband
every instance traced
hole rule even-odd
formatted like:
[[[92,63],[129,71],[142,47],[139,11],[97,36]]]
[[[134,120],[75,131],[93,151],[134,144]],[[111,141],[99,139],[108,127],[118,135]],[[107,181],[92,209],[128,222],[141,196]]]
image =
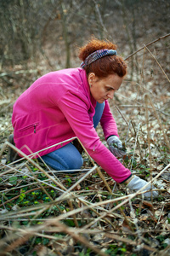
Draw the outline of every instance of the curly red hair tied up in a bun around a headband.
[[[116,44],[110,41],[99,40],[92,38],[88,44],[80,48],[79,59],[85,61],[88,55],[92,54],[98,49],[116,49]],[[111,74],[117,74],[119,77],[124,77],[127,74],[127,64],[122,57],[117,55],[106,55],[97,61],[84,67],[87,75],[88,73],[95,73],[98,78],[105,78]]]

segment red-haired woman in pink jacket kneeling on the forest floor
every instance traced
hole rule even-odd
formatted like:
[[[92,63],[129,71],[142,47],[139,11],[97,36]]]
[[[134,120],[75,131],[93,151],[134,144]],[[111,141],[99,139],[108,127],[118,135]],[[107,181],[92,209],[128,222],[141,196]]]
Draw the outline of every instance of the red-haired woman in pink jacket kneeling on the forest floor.
[[[48,166],[71,170],[79,169],[83,162],[74,144],[69,141],[49,147],[78,137],[88,154],[117,183],[127,183],[129,189],[141,189],[146,182],[132,177],[116,159],[124,151],[108,102],[120,88],[127,65],[116,55],[115,44],[98,39],[82,47],[79,58],[81,67],[42,76],[14,103],[14,143],[25,154],[47,148],[39,155]],[[110,150],[100,142],[95,131],[99,122]],[[144,195],[150,198],[150,193]],[[157,193],[153,191],[152,195]]]

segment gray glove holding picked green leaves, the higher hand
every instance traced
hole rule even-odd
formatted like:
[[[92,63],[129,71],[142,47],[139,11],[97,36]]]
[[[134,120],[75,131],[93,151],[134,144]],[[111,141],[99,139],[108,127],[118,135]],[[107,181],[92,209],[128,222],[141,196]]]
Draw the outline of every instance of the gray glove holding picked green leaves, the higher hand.
[[[116,135],[109,137],[107,139],[107,144],[109,145],[111,153],[116,157],[122,157],[123,155],[127,154],[126,151],[122,150],[122,142]]]

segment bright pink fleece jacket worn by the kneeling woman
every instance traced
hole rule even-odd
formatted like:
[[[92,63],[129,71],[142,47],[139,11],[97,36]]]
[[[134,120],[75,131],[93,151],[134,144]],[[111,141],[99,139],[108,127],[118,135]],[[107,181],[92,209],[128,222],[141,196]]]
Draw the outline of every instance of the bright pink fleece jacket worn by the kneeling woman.
[[[93,124],[95,106],[96,101],[90,95],[88,79],[82,68],[48,73],[37,79],[14,103],[14,143],[25,154],[31,154],[78,137],[97,164],[121,183],[130,177],[131,172],[100,142]],[[105,139],[118,136],[107,101],[100,124]],[[48,154],[65,144],[39,154]]]

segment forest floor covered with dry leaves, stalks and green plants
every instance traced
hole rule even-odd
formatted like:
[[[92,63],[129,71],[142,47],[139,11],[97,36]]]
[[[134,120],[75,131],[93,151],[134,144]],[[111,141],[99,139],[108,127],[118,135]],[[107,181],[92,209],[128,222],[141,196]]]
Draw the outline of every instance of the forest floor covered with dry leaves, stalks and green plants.
[[[155,183],[159,196],[151,201],[115,183],[85,152],[77,173],[26,157],[8,163],[13,103],[47,68],[1,73],[0,255],[170,254],[169,56],[169,38],[130,56],[127,78],[110,102],[127,147],[120,161]]]

